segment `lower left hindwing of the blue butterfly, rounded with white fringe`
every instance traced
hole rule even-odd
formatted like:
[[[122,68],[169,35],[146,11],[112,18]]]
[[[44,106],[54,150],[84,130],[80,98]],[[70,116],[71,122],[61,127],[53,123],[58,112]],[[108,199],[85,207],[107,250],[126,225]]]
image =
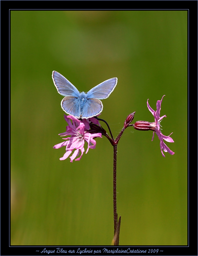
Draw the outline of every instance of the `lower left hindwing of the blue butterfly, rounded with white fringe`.
[[[80,101],[73,96],[66,96],[61,101],[62,109],[70,115],[80,118]]]

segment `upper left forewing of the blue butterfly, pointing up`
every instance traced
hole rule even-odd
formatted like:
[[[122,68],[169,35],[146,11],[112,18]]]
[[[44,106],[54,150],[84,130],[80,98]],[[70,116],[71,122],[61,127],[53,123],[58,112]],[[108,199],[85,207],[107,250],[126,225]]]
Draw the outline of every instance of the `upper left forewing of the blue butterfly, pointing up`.
[[[74,85],[70,83],[70,81],[68,81],[60,73],[53,71],[52,79],[54,81],[54,85],[56,86],[58,93],[60,93],[63,96],[79,97],[79,91],[75,88]]]

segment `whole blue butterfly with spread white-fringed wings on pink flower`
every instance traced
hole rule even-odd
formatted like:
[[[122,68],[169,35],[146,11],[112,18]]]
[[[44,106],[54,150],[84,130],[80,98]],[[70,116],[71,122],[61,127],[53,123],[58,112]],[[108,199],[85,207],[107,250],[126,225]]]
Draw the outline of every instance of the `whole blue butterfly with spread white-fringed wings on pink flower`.
[[[103,103],[100,100],[109,97],[118,81],[118,78],[114,77],[95,86],[88,93],[80,93],[60,73],[53,71],[52,79],[58,93],[65,96],[61,101],[62,109],[78,119],[88,119],[100,114],[103,111]]]

